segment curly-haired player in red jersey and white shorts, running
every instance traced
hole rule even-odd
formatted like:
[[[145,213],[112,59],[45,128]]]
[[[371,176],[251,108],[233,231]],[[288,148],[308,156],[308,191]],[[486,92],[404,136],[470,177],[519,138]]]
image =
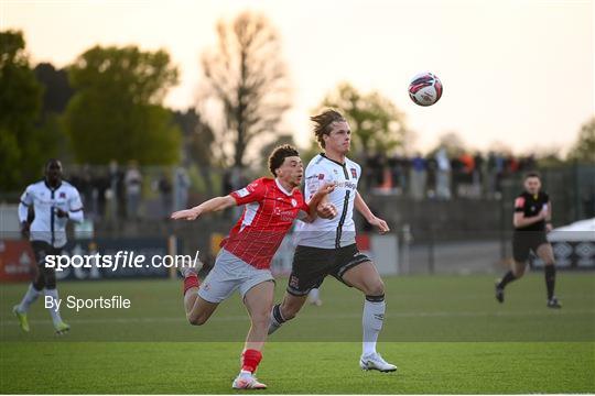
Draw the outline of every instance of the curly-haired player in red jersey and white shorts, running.
[[[320,205],[334,189],[333,184],[324,185],[305,204],[298,188],[304,168],[295,148],[290,145],[277,147],[269,157],[269,169],[274,179],[259,178],[226,197],[213,198],[172,215],[172,219],[195,220],[208,212],[246,205],[244,215],[221,243],[223,249],[203,284],[199,285],[196,268],[182,268],[184,308],[192,324],[205,323],[219,302],[239,288],[251,327],[241,354],[241,371],[232,384],[236,389],[267,387],[253,373],[262,359],[261,350],[269,329],[274,292],[270,263],[277,249],[296,218],[307,222],[316,215],[325,218],[336,215],[332,205]]]

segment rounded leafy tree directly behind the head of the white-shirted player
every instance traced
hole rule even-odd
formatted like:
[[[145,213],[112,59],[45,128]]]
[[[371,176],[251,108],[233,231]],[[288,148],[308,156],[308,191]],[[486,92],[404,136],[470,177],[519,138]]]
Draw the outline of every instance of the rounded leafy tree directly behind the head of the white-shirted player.
[[[404,114],[379,92],[361,94],[344,82],[326,96],[322,107],[336,108],[346,117],[354,135],[354,153],[408,148],[411,134]]]

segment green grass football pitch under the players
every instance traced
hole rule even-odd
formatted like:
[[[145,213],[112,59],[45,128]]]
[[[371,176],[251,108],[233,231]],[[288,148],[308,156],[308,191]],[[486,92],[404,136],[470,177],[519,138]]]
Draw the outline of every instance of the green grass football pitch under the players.
[[[387,315],[379,351],[397,373],[363,372],[363,297],[334,279],[322,307],[306,306],[270,338],[259,378],[263,393],[595,393],[595,274],[559,272],[564,307],[545,307],[541,273],[494,299],[493,276],[385,278]],[[285,279],[279,279],[277,300]],[[203,327],[186,323],[174,280],[63,282],[62,298],[121,295],[130,309],[63,308],[72,324],[53,336],[40,300],[31,332],[11,308],[25,284],[0,285],[0,392],[234,393],[249,327],[235,295]],[[63,302],[66,304],[66,302]]]

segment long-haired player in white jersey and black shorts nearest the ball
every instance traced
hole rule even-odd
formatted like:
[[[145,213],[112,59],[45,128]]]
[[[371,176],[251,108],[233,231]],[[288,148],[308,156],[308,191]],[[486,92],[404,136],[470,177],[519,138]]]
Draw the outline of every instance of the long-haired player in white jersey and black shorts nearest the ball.
[[[307,199],[322,184],[334,183],[335,189],[325,204],[336,208],[336,216],[300,224],[296,230],[298,246],[292,273],[283,301],[273,306],[269,333],[294,318],[306,301],[309,292],[320,287],[327,275],[333,275],[366,296],[360,367],[396,371],[397,366],[387,363],[376,351],[385,319],[385,285],[371,260],[357,250],[354,208],[380,233],[388,232],[389,227],[370,211],[357,193],[361,167],[346,157],[351,131],[345,118],[338,111],[326,110],[311,120],[315,123],[314,133],[325,152],[316,155],[306,167],[304,196]]]

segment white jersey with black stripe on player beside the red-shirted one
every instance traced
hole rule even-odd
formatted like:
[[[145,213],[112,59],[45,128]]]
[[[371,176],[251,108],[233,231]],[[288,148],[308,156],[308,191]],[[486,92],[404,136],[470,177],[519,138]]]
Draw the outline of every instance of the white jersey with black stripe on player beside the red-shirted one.
[[[305,170],[304,197],[310,200],[323,184],[335,183],[335,190],[327,196],[327,201],[337,208],[337,216],[300,223],[296,228],[299,245],[336,249],[355,243],[354,201],[360,176],[361,167],[349,158],[345,158],[345,164],[324,154],[312,158]]]

